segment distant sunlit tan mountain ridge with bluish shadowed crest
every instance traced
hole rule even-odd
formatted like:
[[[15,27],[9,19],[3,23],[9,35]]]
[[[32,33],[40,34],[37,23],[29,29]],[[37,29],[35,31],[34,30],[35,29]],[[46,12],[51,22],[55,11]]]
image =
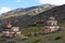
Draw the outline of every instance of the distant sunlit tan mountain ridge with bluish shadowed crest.
[[[0,17],[8,18],[8,17],[21,16],[21,15],[37,15],[38,13],[48,11],[54,6],[55,5],[52,5],[52,4],[42,4],[42,5],[31,6],[31,8],[26,8],[26,9],[16,9],[8,13],[3,13],[2,16]]]

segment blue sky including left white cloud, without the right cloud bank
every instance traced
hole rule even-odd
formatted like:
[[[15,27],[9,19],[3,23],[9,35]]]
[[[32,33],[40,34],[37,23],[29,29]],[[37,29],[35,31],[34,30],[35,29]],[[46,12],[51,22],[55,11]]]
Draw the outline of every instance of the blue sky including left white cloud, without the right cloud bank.
[[[40,5],[37,0],[0,0],[0,14],[17,8]]]

